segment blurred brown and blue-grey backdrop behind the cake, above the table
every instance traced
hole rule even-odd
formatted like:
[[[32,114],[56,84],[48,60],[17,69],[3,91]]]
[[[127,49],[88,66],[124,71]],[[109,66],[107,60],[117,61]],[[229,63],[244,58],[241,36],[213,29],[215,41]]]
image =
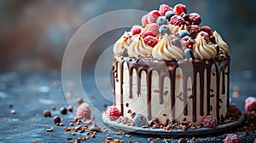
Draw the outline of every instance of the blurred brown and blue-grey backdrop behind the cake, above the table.
[[[218,30],[230,45],[231,71],[234,74],[243,72],[250,76],[256,71],[253,63],[256,2],[252,0],[1,0],[0,72],[61,70],[68,41],[86,21],[117,9],[150,11],[158,9],[161,3],[171,6],[184,3],[188,12],[201,14],[201,26],[208,25]],[[93,61],[123,32],[124,29],[117,29],[99,37],[85,54],[83,69],[93,69]],[[84,37],[90,37],[90,33]]]

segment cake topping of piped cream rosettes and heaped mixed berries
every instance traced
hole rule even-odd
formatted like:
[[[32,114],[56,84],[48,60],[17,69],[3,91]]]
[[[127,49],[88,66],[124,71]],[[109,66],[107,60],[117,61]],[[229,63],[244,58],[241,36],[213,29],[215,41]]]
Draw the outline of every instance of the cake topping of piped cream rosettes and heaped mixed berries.
[[[161,4],[143,15],[142,26],[134,25],[119,37],[113,54],[155,60],[210,60],[229,54],[229,46],[218,32],[200,24],[200,14],[187,13],[184,4],[173,8]]]

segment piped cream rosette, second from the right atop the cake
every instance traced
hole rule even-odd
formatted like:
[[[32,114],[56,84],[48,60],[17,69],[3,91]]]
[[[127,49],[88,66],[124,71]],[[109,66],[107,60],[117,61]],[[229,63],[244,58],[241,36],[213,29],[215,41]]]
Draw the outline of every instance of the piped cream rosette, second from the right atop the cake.
[[[214,58],[217,54],[217,50],[213,44],[208,44],[204,37],[199,34],[195,38],[195,44],[193,45],[193,51],[195,59],[206,60]]]

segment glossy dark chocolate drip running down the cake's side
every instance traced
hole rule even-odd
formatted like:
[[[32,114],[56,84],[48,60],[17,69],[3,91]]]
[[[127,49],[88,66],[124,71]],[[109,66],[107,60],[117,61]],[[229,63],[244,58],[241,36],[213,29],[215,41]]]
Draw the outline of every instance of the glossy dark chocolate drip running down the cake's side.
[[[119,60],[119,61],[117,61]],[[184,116],[188,116],[188,106],[187,106],[187,102],[188,99],[193,98],[192,99],[192,118],[193,118],[193,122],[196,122],[196,112],[198,111],[197,109],[197,104],[199,104],[200,107],[200,115],[201,116],[205,116],[205,114],[209,115],[210,112],[212,111],[211,109],[211,74],[212,73],[212,66],[215,66],[216,68],[216,75],[214,74],[213,77],[216,77],[216,87],[217,87],[217,91],[219,91],[220,89],[220,82],[223,82],[223,85],[225,83],[225,75],[227,75],[227,80],[228,80],[228,87],[229,87],[229,72],[230,72],[230,57],[227,55],[220,55],[219,57],[217,57],[216,59],[213,60],[194,60],[193,62],[187,61],[187,60],[181,60],[181,61],[176,61],[176,60],[172,60],[172,61],[166,61],[166,60],[152,60],[150,58],[142,58],[140,60],[137,59],[131,59],[131,58],[119,58],[119,57],[113,57],[113,79],[114,80],[118,80],[118,71],[120,71],[120,100],[121,100],[121,112],[123,114],[124,112],[124,105],[123,105],[123,77],[124,77],[124,62],[127,64],[128,66],[128,71],[129,71],[129,98],[132,99],[133,95],[132,95],[132,76],[133,76],[133,69],[136,70],[137,72],[137,95],[140,96],[141,95],[141,77],[142,77],[142,72],[144,71],[146,73],[146,82],[147,82],[147,117],[148,120],[152,119],[152,111],[151,111],[151,95],[152,95],[152,72],[155,71],[158,73],[159,76],[159,103],[163,104],[164,103],[164,99],[163,99],[163,88],[164,88],[164,79],[165,77],[169,77],[170,80],[170,89],[171,89],[171,121],[172,123],[174,123],[174,119],[175,119],[175,110],[174,110],[174,105],[175,105],[175,97],[177,94],[175,94],[175,81],[176,79],[176,69],[177,67],[181,68],[181,71],[183,72],[183,115]],[[118,69],[118,63],[120,64],[120,69]],[[225,70],[228,68],[227,73],[224,73]],[[207,79],[205,79],[205,71],[206,71],[206,77]],[[224,72],[223,72],[224,71]],[[223,80],[220,81],[220,73],[223,73]],[[197,81],[197,74],[199,74],[199,81]],[[191,81],[192,81],[192,95],[188,95],[188,80],[189,77],[191,77]],[[196,83],[200,82],[199,86],[200,86],[200,94],[197,94],[196,90],[197,90],[197,85]],[[207,84],[207,87],[205,88],[205,83]],[[114,96],[116,96],[115,93],[115,83],[113,83],[113,94]],[[225,89],[226,87],[222,87],[222,89],[224,89],[224,91],[221,91],[222,94],[224,94],[226,92],[227,94],[227,106],[229,105],[229,89]],[[205,91],[206,90],[206,91]],[[225,91],[227,90],[227,91]],[[205,94],[207,93],[207,94]],[[217,112],[217,118],[219,120],[219,94],[220,92],[216,92],[216,95],[213,97],[216,97],[216,112]],[[189,96],[189,98],[188,98]],[[197,103],[197,98],[200,98],[199,102]],[[206,106],[206,110],[207,113],[205,113],[204,111],[204,100],[207,100],[207,106]],[[114,102],[116,105],[116,97],[114,98]]]

